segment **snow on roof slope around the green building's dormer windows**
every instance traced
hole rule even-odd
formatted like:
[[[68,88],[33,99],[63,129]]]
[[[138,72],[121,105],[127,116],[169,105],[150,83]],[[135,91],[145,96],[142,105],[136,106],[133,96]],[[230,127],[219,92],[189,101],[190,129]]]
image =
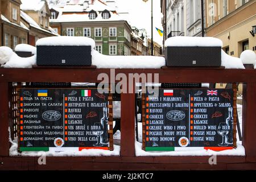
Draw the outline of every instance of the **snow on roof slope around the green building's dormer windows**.
[[[112,13],[110,11],[110,18],[109,19],[103,19],[101,16],[101,13],[97,12],[98,16],[96,19],[89,19],[89,14],[59,14],[57,19],[50,19],[50,22],[108,22],[108,21],[120,21],[124,20],[121,16],[118,14]]]

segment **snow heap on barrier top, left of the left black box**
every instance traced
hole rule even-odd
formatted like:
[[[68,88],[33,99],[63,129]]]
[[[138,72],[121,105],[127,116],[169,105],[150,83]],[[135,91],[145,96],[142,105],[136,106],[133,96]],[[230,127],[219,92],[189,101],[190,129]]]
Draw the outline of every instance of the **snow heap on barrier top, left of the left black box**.
[[[16,53],[11,55],[10,60],[3,68],[32,68],[36,64],[36,55],[31,57],[19,57]]]

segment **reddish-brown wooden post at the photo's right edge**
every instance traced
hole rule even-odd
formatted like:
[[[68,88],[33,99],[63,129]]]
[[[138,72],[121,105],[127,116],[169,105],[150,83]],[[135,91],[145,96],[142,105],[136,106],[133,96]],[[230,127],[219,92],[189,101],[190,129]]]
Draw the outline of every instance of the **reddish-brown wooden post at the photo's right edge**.
[[[243,146],[246,158],[256,157],[256,84],[247,83],[243,90]]]

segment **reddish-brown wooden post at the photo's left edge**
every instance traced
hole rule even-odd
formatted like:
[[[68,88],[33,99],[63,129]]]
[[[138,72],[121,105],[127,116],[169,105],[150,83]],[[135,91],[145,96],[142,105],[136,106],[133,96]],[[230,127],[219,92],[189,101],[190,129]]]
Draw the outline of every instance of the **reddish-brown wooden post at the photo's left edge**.
[[[9,156],[9,84],[0,82],[0,156]]]

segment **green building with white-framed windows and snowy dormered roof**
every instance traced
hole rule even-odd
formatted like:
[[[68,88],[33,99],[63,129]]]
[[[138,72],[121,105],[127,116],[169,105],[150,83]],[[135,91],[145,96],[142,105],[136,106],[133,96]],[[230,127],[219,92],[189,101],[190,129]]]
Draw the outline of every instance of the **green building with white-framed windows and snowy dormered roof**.
[[[100,0],[73,0],[50,11],[50,26],[60,35],[88,36],[104,55],[131,55],[132,29],[114,7]]]

